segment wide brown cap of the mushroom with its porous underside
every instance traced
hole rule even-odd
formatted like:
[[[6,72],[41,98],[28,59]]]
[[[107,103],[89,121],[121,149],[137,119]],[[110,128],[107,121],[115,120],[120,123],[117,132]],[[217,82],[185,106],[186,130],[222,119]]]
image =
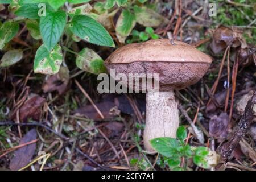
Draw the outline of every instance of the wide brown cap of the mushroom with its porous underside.
[[[105,61],[115,73],[158,73],[160,90],[182,89],[207,72],[212,59],[189,44],[168,39],[123,46]]]

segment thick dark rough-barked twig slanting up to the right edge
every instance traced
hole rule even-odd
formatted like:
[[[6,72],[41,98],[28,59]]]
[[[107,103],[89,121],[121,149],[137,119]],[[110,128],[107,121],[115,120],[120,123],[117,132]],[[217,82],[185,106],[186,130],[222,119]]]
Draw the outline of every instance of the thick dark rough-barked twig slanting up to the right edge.
[[[243,113],[240,122],[237,124],[236,129],[234,129],[232,137],[228,140],[228,142],[226,142],[222,147],[218,148],[217,150],[221,154],[222,159],[230,159],[234,148],[236,148],[237,144],[245,136],[246,131],[249,129],[251,123],[253,122],[253,118],[255,117],[255,113],[253,111],[253,107],[255,104],[256,90],[254,91],[251,99],[247,102],[245,112]]]

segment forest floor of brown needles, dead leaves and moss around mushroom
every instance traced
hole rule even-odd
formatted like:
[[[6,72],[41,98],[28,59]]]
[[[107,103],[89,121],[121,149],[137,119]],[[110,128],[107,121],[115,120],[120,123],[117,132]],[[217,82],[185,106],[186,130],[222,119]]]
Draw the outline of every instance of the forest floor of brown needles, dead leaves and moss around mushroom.
[[[180,125],[189,131],[185,142],[216,151],[232,136],[256,88],[255,4],[216,1],[217,16],[209,17],[205,1],[183,1],[178,13],[174,3],[158,3],[159,13],[169,20],[155,28],[160,38],[171,33],[213,57],[197,84],[175,94],[183,108]],[[6,16],[7,11],[0,11],[0,17]],[[23,49],[33,44],[26,28],[12,42]],[[74,43],[72,49],[84,47],[104,60],[114,51],[85,42]],[[44,154],[49,158],[43,170],[169,170],[161,156],[143,150],[145,94],[99,94],[97,75],[76,68],[70,52],[57,75],[35,74],[35,51],[29,49],[19,63],[0,68],[0,170],[18,170],[24,164],[27,170],[39,169],[39,163],[28,162]],[[232,156],[212,169],[255,170],[255,141],[252,124]],[[192,162],[187,169],[204,170]]]

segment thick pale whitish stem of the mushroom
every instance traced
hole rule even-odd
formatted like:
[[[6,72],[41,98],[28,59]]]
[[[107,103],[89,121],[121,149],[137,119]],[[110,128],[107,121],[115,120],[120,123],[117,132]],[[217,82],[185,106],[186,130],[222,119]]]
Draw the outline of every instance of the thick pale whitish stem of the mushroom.
[[[146,96],[146,128],[144,131],[144,147],[154,152],[150,140],[158,137],[176,138],[179,127],[179,111],[174,91],[153,93]]]

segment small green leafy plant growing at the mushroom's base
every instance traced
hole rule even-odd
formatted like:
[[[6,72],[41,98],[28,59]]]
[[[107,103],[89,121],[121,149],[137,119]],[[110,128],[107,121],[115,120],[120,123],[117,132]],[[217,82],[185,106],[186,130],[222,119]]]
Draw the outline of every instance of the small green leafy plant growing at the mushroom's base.
[[[184,170],[189,159],[193,160],[197,166],[208,169],[213,167],[216,155],[212,155],[207,147],[192,147],[185,144],[187,131],[184,126],[177,129],[176,138],[162,137],[155,138],[150,141],[152,147],[159,152],[160,160],[158,164],[164,167],[168,165],[171,170]],[[184,158],[184,166],[181,166],[182,158]],[[216,161],[215,161],[216,162]]]

